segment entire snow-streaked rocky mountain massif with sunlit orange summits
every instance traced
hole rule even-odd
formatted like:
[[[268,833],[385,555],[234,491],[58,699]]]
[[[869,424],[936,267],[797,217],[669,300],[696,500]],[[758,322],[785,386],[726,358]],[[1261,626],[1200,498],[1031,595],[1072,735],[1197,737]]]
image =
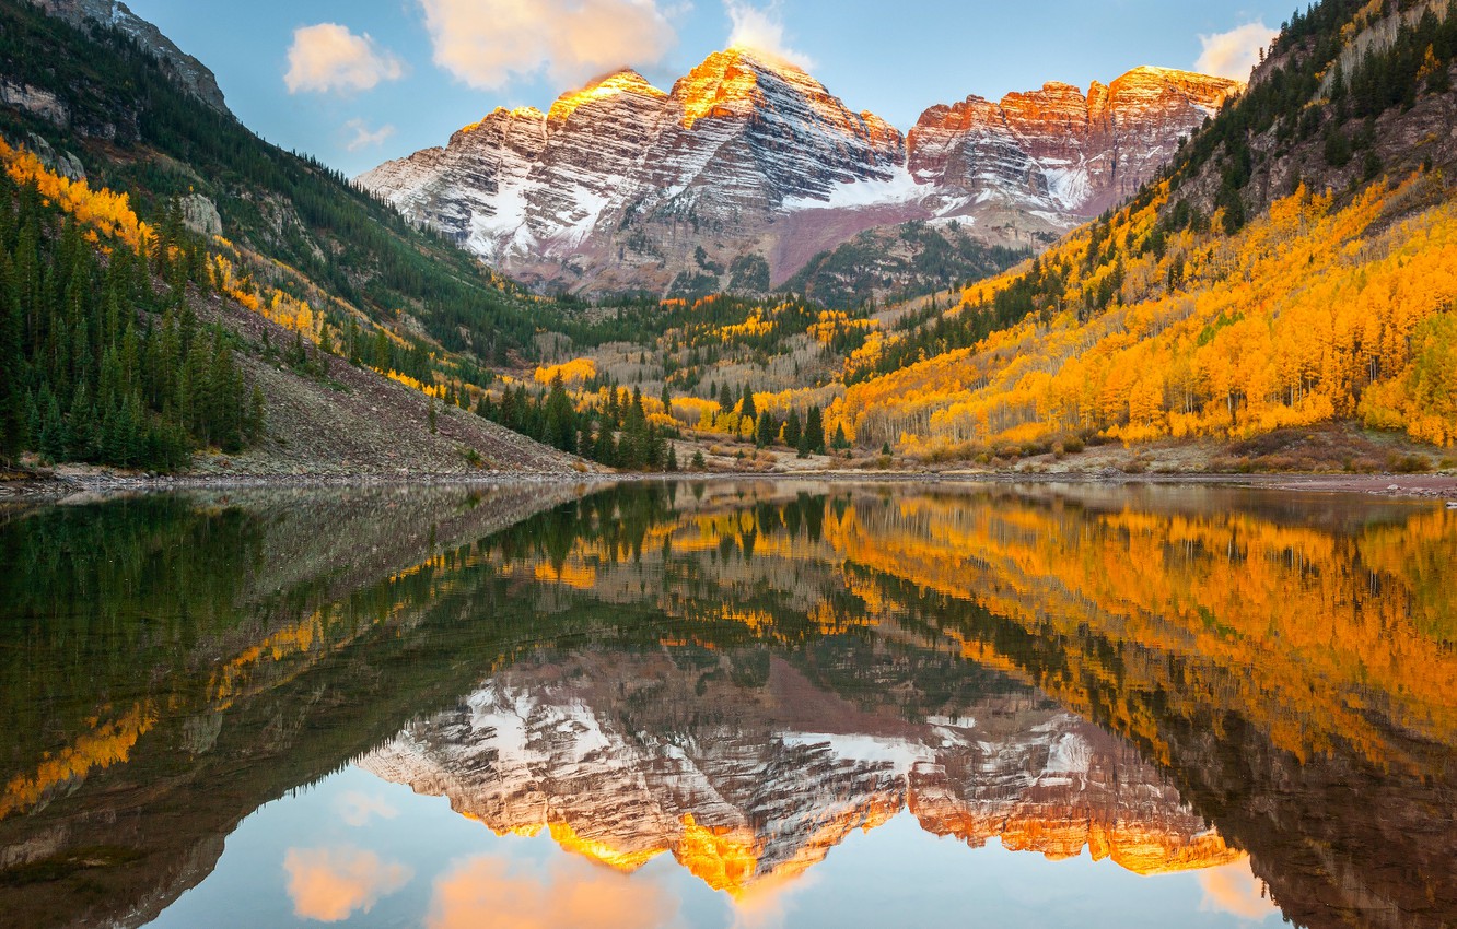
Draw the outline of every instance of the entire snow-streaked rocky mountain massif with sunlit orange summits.
[[[1138,68],[1085,96],[1048,84],[935,106],[906,137],[804,70],[730,48],[666,93],[624,70],[546,114],[497,109],[358,182],[538,287],[763,291],[912,220],[981,248],[1045,245],[1135,191],[1237,90]]]

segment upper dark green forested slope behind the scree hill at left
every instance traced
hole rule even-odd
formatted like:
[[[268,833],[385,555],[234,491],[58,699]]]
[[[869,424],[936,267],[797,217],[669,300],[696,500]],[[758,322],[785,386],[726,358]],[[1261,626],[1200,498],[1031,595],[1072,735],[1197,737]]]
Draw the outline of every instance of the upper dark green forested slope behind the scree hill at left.
[[[67,15],[73,3],[52,3]],[[318,162],[254,135],[133,31],[0,4],[0,131],[149,218],[170,201],[223,236],[259,288],[309,301],[335,329],[373,322],[427,351],[485,361],[530,351],[549,306],[423,233]],[[154,29],[153,29],[154,31]],[[170,44],[169,44],[170,45]],[[173,47],[175,48],[175,47]]]

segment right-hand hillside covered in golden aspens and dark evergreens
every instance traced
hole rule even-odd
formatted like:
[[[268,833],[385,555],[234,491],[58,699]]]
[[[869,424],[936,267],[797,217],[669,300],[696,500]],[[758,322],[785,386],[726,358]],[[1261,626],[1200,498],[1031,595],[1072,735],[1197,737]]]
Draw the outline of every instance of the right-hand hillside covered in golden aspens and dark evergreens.
[[[829,421],[922,457],[1340,421],[1451,446],[1457,16],[1327,0],[1271,51],[1126,207],[877,339]]]

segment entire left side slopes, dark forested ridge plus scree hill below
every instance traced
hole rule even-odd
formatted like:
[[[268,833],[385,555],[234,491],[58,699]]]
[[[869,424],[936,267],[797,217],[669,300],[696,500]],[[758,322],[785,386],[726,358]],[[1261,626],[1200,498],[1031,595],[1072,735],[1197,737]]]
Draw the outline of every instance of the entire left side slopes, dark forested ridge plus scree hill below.
[[[92,25],[93,6],[0,6],[0,454],[571,472],[460,409],[485,364],[533,351],[551,304],[258,140],[204,66],[124,7]]]

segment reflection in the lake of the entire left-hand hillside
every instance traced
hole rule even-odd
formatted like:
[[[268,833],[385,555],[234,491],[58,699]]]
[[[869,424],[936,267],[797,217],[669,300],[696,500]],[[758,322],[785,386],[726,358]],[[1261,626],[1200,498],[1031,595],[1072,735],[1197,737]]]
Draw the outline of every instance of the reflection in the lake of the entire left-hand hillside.
[[[28,566],[0,577],[0,708],[23,722],[0,744],[7,919],[146,922],[259,804],[450,700],[474,671],[446,673],[466,636],[431,645],[441,604],[498,596],[469,545],[571,495],[143,498],[7,526]],[[345,510],[388,518],[326,534]]]

